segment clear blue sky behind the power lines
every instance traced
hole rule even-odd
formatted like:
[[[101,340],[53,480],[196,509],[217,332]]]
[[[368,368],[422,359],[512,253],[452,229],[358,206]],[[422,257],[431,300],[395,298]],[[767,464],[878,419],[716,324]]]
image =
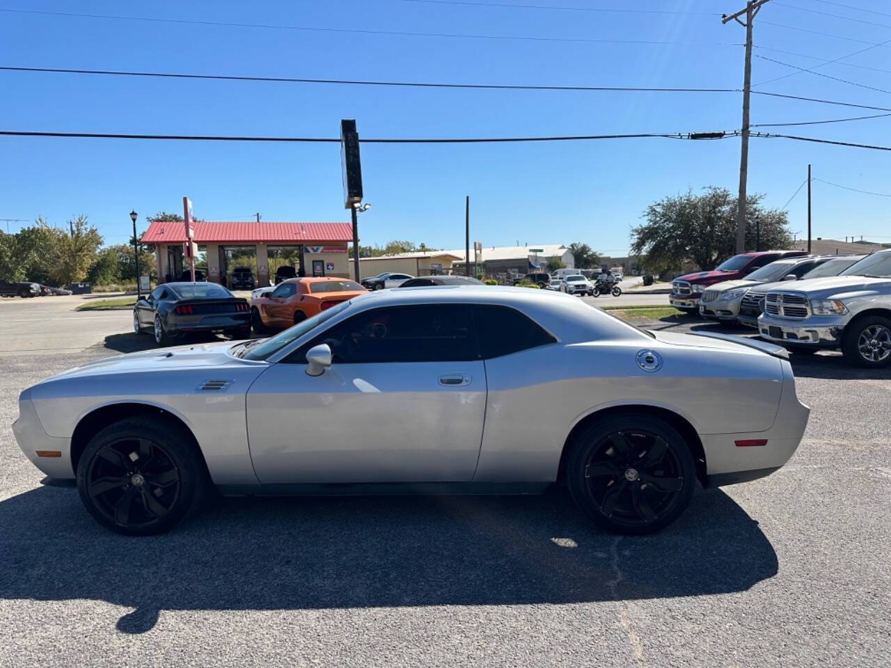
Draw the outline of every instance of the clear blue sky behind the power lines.
[[[0,12],[0,65],[533,85],[738,88],[742,83],[739,44],[744,29],[735,23],[722,25],[719,16],[692,12],[731,12],[742,7],[743,0],[502,0],[539,7],[682,12],[670,14],[472,6],[470,1],[0,0],[0,9],[671,44],[397,36]],[[766,4],[756,19],[755,53],[813,68],[871,43],[891,40],[887,3],[838,2],[848,6],[818,0]],[[872,12],[850,8],[854,6]],[[753,82],[795,71],[755,58]],[[891,43],[817,71],[891,90]],[[364,137],[686,133],[738,128],[741,97],[13,72],[0,72],[0,86],[4,91],[0,129],[151,134],[337,136],[340,118],[356,118]],[[798,72],[755,90],[891,108],[891,94],[863,86]],[[881,112],[753,95],[751,122],[872,113]],[[891,145],[889,128],[891,117],[770,129]],[[372,210],[362,216],[360,234],[364,243],[408,239],[431,247],[460,246],[464,195],[470,195],[471,237],[486,245],[581,240],[602,253],[620,255],[628,247],[630,227],[653,200],[708,184],[735,191],[739,151],[740,140],[735,138],[365,144],[364,191]],[[752,139],[748,187],[764,192],[768,205],[782,207],[812,163],[815,178],[891,193],[889,159],[891,154],[885,151]],[[178,211],[184,195],[192,198],[195,215],[207,219],[247,219],[259,211],[266,220],[348,220],[337,144],[0,137],[3,218],[42,215],[53,224],[64,224],[69,216],[84,213],[107,242],[119,243],[127,240],[131,208],[141,217],[162,209]],[[889,205],[891,198],[813,183],[813,234],[838,239],[862,234],[891,241]],[[789,205],[789,218],[791,230],[800,236],[806,230],[805,189]],[[18,225],[11,224],[10,229]]]

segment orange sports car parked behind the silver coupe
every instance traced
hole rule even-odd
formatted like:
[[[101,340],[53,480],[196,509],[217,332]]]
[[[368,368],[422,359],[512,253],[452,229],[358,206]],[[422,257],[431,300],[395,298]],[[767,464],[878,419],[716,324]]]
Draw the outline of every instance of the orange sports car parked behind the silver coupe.
[[[282,281],[264,297],[250,300],[254,330],[283,330],[368,290],[339,278],[295,278]]]

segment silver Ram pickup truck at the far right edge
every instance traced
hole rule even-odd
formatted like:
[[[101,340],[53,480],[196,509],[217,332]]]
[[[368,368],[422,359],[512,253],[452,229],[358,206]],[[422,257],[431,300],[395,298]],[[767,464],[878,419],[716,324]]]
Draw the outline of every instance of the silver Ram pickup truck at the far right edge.
[[[845,359],[858,366],[891,364],[891,248],[864,257],[834,278],[769,290],[758,331],[796,353],[841,348]]]

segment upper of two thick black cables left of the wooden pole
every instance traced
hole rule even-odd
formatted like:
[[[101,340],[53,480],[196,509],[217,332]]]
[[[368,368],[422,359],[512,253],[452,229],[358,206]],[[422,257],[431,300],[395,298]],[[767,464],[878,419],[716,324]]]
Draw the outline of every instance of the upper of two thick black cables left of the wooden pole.
[[[11,72],[51,72],[56,74],[94,74],[115,77],[165,77],[180,79],[211,79],[220,81],[263,81],[288,84],[338,84],[343,86],[406,86],[419,88],[470,88],[494,90],[539,90],[539,91],[593,91],[628,93],[738,93],[734,88],[683,88],[683,87],[644,87],[644,86],[527,86],[511,84],[451,84],[425,81],[367,81],[358,79],[313,79],[296,77],[252,77],[224,74],[187,74],[177,72],[140,72],[119,69],[67,69],[67,68],[25,68],[0,66],[0,70]]]

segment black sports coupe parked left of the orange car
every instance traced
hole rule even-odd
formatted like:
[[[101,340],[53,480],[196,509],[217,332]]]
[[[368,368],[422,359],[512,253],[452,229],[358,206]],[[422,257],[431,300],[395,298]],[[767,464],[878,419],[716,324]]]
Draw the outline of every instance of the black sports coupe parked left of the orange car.
[[[147,328],[159,346],[190,333],[250,338],[250,306],[217,283],[164,283],[134,307],[133,330]]]

